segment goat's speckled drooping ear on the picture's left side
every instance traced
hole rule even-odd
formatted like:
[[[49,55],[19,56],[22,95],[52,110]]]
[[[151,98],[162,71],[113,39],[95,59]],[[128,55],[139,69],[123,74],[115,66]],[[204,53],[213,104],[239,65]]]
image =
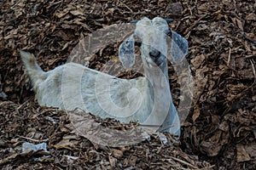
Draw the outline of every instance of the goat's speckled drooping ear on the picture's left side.
[[[119,46],[119,58],[125,68],[130,68],[135,62],[135,48],[133,34]]]

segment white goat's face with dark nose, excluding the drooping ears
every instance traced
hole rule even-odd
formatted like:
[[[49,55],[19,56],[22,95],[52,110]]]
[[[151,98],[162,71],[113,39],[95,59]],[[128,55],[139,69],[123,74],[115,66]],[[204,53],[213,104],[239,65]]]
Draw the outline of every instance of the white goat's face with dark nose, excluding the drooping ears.
[[[166,20],[143,18],[137,22],[134,31],[135,42],[140,46],[144,67],[151,69],[167,66],[168,33],[170,32]]]

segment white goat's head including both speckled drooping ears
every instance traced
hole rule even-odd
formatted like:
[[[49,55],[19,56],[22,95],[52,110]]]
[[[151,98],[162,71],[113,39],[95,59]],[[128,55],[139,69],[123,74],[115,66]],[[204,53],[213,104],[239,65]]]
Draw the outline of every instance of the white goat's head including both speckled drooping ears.
[[[168,20],[167,20],[168,21]],[[151,70],[167,68],[167,57],[172,61],[181,61],[188,50],[188,42],[175,31],[170,30],[165,19],[143,18],[137,21],[134,33],[119,46],[119,58],[126,68],[135,61],[135,45],[140,47],[144,68]]]

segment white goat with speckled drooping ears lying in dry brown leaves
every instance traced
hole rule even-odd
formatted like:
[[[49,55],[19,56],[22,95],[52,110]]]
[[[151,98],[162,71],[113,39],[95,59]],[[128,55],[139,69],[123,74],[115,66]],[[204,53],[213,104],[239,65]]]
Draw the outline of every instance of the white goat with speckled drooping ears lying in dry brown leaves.
[[[137,21],[133,34],[119,45],[119,59],[125,68],[135,62],[139,45],[145,77],[120,79],[76,63],[42,71],[33,54],[20,51],[32,80],[39,105],[67,111],[81,109],[102,118],[120,122],[137,121],[158,131],[180,135],[177,110],[172,103],[168,81],[167,56],[180,62],[188,42],[170,30],[166,20],[144,17]]]

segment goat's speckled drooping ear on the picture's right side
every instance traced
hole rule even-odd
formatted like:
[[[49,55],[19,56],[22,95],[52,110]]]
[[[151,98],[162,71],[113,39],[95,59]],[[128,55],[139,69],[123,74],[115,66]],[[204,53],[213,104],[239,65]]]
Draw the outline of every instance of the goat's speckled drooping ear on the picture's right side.
[[[177,32],[172,31],[171,39],[171,57],[175,63],[182,61],[185,55],[188,53],[188,41],[177,34]]]

